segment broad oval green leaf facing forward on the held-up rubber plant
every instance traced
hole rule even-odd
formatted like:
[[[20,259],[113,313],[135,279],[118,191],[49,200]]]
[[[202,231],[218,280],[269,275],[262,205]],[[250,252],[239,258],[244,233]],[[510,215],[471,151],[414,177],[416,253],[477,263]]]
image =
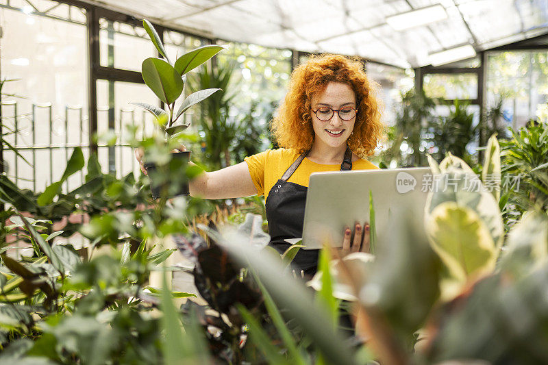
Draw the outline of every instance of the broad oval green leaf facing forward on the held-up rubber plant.
[[[159,58],[147,58],[142,62],[142,79],[164,103],[171,104],[183,92],[183,80],[171,64]]]

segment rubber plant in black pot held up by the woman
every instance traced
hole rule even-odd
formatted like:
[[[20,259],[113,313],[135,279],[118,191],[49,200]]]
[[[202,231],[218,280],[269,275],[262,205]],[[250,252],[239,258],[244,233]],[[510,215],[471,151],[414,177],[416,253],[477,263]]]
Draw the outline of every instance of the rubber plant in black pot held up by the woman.
[[[219,53],[219,51],[223,50],[224,47],[206,45],[185,53],[177,58],[175,62],[171,62],[166,54],[162,40],[160,40],[160,36],[158,36],[158,33],[151,23],[147,20],[143,20],[142,25],[145,27],[147,34],[149,34],[154,47],[158,50],[160,56],[162,56],[162,58],[147,58],[142,62],[142,79],[158,99],[162,101],[162,105],[166,105],[167,110],[147,103],[132,104],[144,108],[153,114],[160,132],[164,134],[166,146],[169,146],[170,144],[173,144],[173,139],[177,134],[180,134],[189,126],[188,123],[178,122],[179,118],[181,118],[192,105],[199,103],[214,92],[221,90],[219,88],[210,88],[193,92],[182,101],[178,110],[175,111],[175,102],[183,95],[186,74],[210,60],[210,58]],[[166,195],[188,195],[188,181],[184,181],[177,190],[169,191],[168,186],[170,179],[166,179],[165,174],[162,178],[162,170],[166,171],[168,168],[174,167],[185,168],[186,164],[190,161],[189,151],[173,153],[171,154],[169,161],[166,161],[165,159],[162,162],[158,162],[158,160],[154,161],[154,159],[150,159],[150,156],[147,156],[146,153],[144,158],[145,168],[147,168],[150,178],[153,198],[156,199]]]

